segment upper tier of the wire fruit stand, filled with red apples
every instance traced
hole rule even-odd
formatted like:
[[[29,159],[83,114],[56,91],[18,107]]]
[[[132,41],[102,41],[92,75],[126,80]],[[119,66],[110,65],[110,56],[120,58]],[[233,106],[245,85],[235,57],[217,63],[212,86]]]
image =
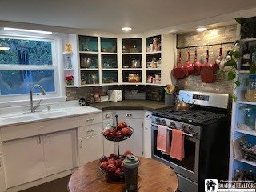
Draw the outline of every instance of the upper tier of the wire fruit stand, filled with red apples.
[[[120,132],[122,131],[124,134],[117,135],[118,131],[111,130],[111,128],[103,129],[102,134],[109,141],[120,142],[120,141],[126,140],[127,138],[130,138],[130,136],[134,133],[134,129],[130,126],[126,126],[122,129],[125,129],[125,130],[123,130],[123,131],[120,130]],[[110,133],[112,133],[112,134],[110,134]]]

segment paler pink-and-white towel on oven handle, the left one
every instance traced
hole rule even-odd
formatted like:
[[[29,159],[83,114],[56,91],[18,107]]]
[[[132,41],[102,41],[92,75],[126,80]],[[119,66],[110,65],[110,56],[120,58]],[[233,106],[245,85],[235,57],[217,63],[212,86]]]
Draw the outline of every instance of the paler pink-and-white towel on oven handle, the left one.
[[[170,154],[170,134],[167,126],[158,125],[157,149],[164,154]]]

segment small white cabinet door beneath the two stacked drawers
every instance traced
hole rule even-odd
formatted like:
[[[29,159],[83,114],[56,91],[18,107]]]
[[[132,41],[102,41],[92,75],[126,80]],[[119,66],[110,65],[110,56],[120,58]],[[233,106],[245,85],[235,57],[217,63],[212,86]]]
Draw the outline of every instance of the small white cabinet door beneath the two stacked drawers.
[[[79,166],[92,162],[102,157],[103,138],[102,134],[96,134],[88,138],[78,140]]]

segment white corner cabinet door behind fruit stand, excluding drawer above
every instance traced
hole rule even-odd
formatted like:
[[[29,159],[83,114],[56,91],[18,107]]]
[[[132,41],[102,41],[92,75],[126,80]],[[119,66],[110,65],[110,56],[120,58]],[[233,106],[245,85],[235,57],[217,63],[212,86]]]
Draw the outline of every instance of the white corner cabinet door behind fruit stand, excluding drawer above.
[[[128,126],[134,129],[134,133],[130,138],[119,142],[120,154],[123,154],[126,150],[130,150],[134,155],[142,156],[142,119],[118,118],[118,122],[126,122]]]

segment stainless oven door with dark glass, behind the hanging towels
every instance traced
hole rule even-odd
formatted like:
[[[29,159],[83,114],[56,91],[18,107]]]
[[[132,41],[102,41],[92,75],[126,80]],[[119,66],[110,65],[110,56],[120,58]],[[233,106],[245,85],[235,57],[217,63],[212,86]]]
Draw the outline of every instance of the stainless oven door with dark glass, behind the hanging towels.
[[[185,158],[182,161],[170,158],[167,154],[162,154],[160,150],[157,150],[157,136],[158,127],[155,124],[151,125],[152,129],[152,158],[157,159],[160,162],[165,163],[174,169],[175,173],[182,175],[191,181],[198,183],[198,162],[199,162],[199,144],[200,140],[193,136],[185,136],[184,150]],[[171,130],[168,130],[171,134]],[[170,137],[171,140],[171,137]],[[171,147],[171,141],[170,141]]]

